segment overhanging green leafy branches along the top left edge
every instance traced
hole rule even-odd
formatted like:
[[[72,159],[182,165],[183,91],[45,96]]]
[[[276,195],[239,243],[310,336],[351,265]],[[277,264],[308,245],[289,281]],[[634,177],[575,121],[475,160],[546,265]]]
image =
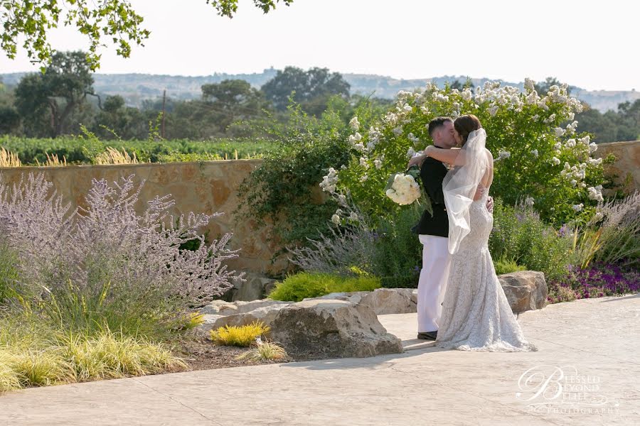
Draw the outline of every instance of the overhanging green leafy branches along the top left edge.
[[[293,0],[253,0],[256,7],[268,13],[282,1],[289,6]],[[232,18],[238,11],[238,0],[207,0],[220,16]],[[31,62],[45,70],[55,52],[48,43],[48,32],[63,23],[75,26],[89,42],[87,61],[92,71],[100,67],[98,48],[110,40],[117,45],[116,53],[123,58],[131,55],[131,45],[144,46],[149,31],[142,28],[144,18],[127,0],[8,0],[0,3],[0,24],[4,28],[0,48],[16,58],[18,40],[24,38],[23,48]],[[106,39],[106,40],[105,40]]]

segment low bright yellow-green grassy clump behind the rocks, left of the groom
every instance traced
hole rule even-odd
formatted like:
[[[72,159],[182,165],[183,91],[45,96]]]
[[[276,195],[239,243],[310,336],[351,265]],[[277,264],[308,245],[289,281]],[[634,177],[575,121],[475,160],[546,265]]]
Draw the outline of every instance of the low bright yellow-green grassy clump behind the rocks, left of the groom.
[[[329,293],[373,291],[380,288],[380,279],[370,276],[341,277],[326,273],[297,273],[277,283],[269,294],[272,300],[300,302],[306,297],[319,297]]]

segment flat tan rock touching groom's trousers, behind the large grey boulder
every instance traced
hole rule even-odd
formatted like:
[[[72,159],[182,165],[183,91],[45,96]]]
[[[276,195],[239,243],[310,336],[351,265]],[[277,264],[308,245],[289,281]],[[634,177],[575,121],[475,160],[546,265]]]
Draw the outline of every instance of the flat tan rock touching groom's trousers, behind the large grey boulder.
[[[411,288],[378,288],[374,291],[356,291],[351,293],[330,293],[306,300],[345,300],[351,303],[361,303],[370,307],[375,315],[408,314],[417,312],[416,302],[412,302]],[[417,293],[415,295],[417,300]]]

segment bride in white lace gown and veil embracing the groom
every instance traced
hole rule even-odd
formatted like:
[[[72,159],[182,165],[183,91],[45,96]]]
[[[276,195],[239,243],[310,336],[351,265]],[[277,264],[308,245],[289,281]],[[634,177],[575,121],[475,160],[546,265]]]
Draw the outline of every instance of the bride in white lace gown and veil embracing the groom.
[[[462,148],[432,146],[426,155],[453,165],[442,183],[449,215],[452,253],[436,346],[464,351],[536,351],[526,341],[504,295],[489,253],[494,218],[486,198],[494,178],[494,158],[474,115],[454,121]]]

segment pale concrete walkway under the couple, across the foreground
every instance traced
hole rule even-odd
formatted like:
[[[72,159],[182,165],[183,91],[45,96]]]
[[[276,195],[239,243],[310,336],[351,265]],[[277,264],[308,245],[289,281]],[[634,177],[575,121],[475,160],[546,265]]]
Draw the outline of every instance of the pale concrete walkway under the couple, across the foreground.
[[[530,353],[442,351],[412,341],[415,314],[380,321],[410,350],[30,389],[0,396],[0,425],[640,425],[640,295],[525,312]]]

